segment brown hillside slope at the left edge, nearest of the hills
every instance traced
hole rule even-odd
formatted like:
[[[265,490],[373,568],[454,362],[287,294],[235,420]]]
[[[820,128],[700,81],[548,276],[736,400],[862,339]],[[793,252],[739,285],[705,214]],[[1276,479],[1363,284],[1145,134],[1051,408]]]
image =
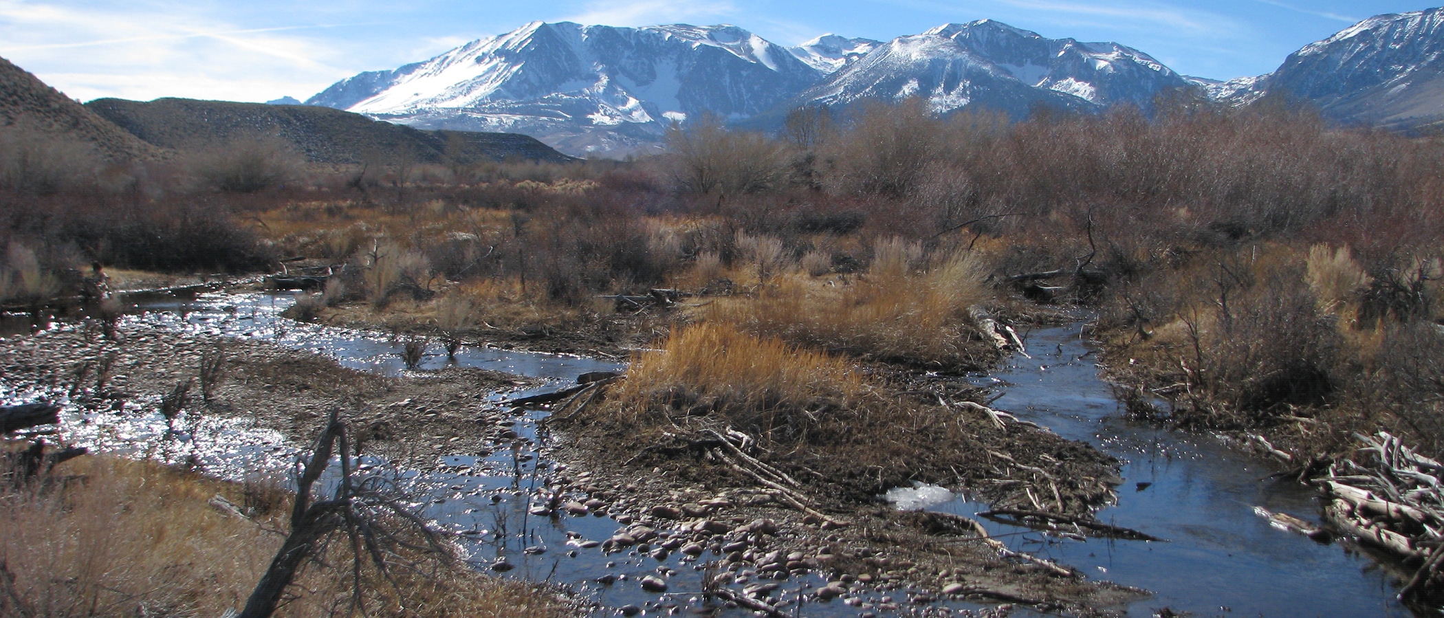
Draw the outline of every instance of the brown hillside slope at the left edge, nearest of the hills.
[[[0,126],[91,146],[107,159],[153,159],[163,152],[0,58]]]

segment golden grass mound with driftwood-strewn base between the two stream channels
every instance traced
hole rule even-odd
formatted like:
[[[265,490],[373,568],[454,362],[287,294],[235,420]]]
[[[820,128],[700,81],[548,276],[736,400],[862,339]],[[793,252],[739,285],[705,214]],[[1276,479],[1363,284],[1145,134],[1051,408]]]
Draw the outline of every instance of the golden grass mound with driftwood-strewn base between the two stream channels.
[[[908,399],[894,388],[845,358],[710,322],[673,331],[661,351],[634,358],[627,380],[604,404],[562,422],[575,420],[569,430],[606,445],[612,458],[634,453],[644,468],[661,465],[703,482],[731,474],[708,464],[706,451],[715,446],[710,430],[739,430],[757,439],[758,458],[807,484],[816,481],[829,502],[872,502],[887,488],[913,481],[965,484],[999,500],[1017,491],[1014,498],[1025,500],[1021,489],[985,481],[996,474],[991,451],[1028,465],[1044,465],[1040,453],[1089,465],[1102,458],[1056,436],[1001,430],[980,413],[940,406],[933,396]],[[1064,492],[1069,513],[1097,498],[1074,497],[1067,487]]]

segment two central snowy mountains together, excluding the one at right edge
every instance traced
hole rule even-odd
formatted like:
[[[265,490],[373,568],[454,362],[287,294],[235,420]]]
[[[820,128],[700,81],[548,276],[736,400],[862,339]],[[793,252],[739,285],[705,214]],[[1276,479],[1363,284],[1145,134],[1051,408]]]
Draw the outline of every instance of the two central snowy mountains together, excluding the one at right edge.
[[[1044,39],[991,20],[887,43],[823,35],[790,49],[736,26],[536,22],[342,79],[306,103],[419,129],[527,133],[586,154],[656,144],[670,123],[703,113],[744,121],[799,104],[921,95],[939,111],[983,104],[1022,116],[1035,104],[1147,105],[1160,90],[1184,85],[1135,49]]]

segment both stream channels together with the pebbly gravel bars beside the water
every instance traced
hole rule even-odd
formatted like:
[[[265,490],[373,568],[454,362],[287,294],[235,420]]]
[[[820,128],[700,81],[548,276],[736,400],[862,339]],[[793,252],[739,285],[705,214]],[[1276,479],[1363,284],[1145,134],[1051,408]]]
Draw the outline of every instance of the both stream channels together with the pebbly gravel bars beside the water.
[[[979,517],[982,504],[946,500],[953,498],[946,489],[917,492],[930,498],[914,507],[979,518],[1012,550],[1076,567],[1086,580],[1002,560],[963,534],[939,530],[926,513],[881,504],[855,507],[848,514],[852,526],[825,530],[736,478],[625,466],[606,443],[557,439],[539,425],[547,410],[498,404],[615,364],[466,348],[456,362],[433,349],[423,371],[407,371],[396,355],[400,342],[384,334],[279,319],[289,305],[284,296],[144,303],[137,309],[150,313],[121,325],[126,349],[114,361],[110,388],[69,393],[77,381],[98,380],[105,344],[94,329],[58,326],[0,344],[6,399],[68,400],[69,425],[62,429],[101,448],[156,443],[165,430],[155,412],[160,396],[196,375],[202,352],[221,349],[235,362],[218,391],[225,403],[198,404],[193,430],[189,419],[180,422],[180,442],[189,436],[189,446],[176,448],[176,461],[196,455],[222,475],[254,472],[258,461],[282,469],[331,406],[355,403],[357,429],[371,433],[370,465],[393,466],[419,497],[414,505],[455,533],[474,565],[565,582],[608,611],[700,608],[693,599],[709,582],[722,582],[715,579],[718,566],[729,560],[736,567],[723,578],[729,589],[803,615],[988,615],[998,604],[1018,601],[1076,615],[1115,614],[1110,608],[1139,617],[1164,608],[1194,615],[1409,615],[1392,601],[1391,576],[1379,567],[1386,560],[1279,531],[1252,513],[1262,505],[1317,521],[1313,489],[1264,479],[1276,471],[1269,461],[1209,436],[1122,420],[1076,325],[1032,332],[1032,358],[1014,357],[973,381],[1001,391],[995,407],[1122,458],[1119,505],[1100,511],[1099,520],[1167,543],[1077,541],[1019,528]],[[78,378],[87,362],[90,375]],[[155,449],[147,455],[170,456]],[[773,560],[796,562],[796,572],[764,578],[761,566],[777,565]],[[643,585],[645,578],[660,580],[666,592],[650,580]],[[941,595],[950,585],[962,588]],[[1022,605],[1012,611],[1031,612]]]

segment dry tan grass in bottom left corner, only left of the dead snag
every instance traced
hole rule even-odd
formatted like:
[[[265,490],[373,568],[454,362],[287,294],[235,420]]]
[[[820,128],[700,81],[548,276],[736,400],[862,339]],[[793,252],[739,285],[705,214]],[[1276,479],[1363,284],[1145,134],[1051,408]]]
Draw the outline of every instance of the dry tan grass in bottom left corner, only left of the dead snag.
[[[10,615],[219,615],[244,604],[280,547],[206,505],[218,484],[111,458],[65,472],[84,481],[0,504],[0,562],[25,605],[0,604]]]

